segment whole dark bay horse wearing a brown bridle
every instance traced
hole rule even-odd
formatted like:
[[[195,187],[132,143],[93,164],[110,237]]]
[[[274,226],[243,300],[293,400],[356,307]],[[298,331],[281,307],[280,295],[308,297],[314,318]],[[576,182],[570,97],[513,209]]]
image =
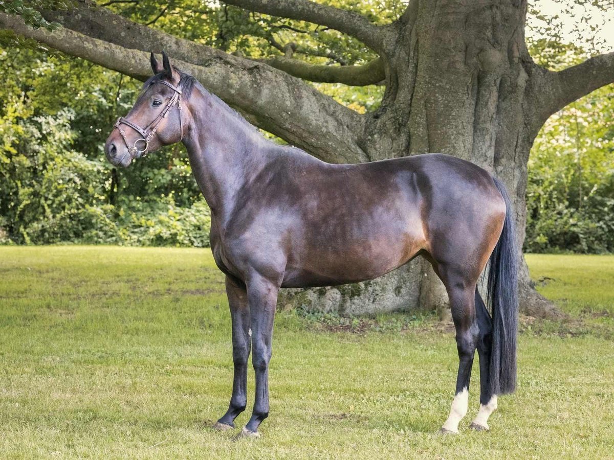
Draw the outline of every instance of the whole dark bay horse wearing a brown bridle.
[[[497,394],[516,385],[517,252],[504,186],[475,164],[441,154],[328,164],[274,144],[196,80],[160,66],[105,145],[112,164],[183,142],[211,207],[211,248],[226,275],[235,375],[224,430],[246,408],[252,351],[255,402],[239,435],[268,416],[268,366],[279,288],[379,277],[417,255],[448,291],[459,353],[456,396],[442,432],[467,413],[473,356],[480,355],[480,410],[488,429]],[[488,261],[492,318],[477,283]]]

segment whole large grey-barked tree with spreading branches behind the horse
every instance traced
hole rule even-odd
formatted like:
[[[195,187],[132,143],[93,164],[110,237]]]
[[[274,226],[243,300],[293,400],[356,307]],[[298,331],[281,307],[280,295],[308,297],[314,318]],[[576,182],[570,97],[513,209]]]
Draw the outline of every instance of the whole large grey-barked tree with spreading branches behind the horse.
[[[278,55],[249,59],[128,20],[90,1],[68,10],[41,10],[44,20],[60,23],[60,29],[33,29],[6,13],[0,13],[0,27],[141,80],[150,76],[149,52],[165,50],[178,67],[252,123],[332,163],[427,152],[472,161],[506,183],[515,202],[519,242],[535,136],[551,114],[614,82],[614,53],[559,72],[538,66],[524,37],[527,0],[410,0],[398,18],[384,25],[353,10],[308,0],[225,4],[334,29],[360,40],[375,57],[360,65],[318,65],[297,58],[295,44],[271,38]],[[360,114],[305,80],[383,84],[386,90],[378,109]],[[532,289],[522,266],[521,309],[535,316],[556,315]],[[282,302],[367,312],[439,308],[446,297],[430,267],[416,260],[378,280],[295,293]]]

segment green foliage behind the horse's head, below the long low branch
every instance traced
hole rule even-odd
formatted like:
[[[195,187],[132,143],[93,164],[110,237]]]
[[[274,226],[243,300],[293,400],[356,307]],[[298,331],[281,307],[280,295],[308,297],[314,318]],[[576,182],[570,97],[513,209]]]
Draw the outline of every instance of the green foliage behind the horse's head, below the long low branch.
[[[179,147],[126,170],[104,158],[138,82],[40,50],[7,49],[0,63],[0,243],[208,245],[209,211]]]

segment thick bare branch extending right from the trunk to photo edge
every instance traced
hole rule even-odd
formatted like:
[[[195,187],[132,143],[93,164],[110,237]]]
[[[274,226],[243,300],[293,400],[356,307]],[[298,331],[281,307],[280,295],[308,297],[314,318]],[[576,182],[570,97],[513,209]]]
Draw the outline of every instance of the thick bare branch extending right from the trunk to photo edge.
[[[543,124],[550,115],[601,86],[614,83],[614,52],[594,56],[559,72],[540,67],[535,75],[536,105]],[[541,125],[540,125],[541,126]]]

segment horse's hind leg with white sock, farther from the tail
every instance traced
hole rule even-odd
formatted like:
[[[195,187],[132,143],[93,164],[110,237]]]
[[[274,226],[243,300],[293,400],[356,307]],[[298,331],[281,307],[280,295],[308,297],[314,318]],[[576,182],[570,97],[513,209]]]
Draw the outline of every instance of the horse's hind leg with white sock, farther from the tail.
[[[457,270],[437,269],[443,280],[448,297],[454,327],[456,328],[456,347],[459,354],[459,370],[456,377],[456,393],[450,408],[448,419],[440,432],[456,434],[461,420],[467,415],[469,383],[478,339],[478,326],[475,315],[475,286]]]

